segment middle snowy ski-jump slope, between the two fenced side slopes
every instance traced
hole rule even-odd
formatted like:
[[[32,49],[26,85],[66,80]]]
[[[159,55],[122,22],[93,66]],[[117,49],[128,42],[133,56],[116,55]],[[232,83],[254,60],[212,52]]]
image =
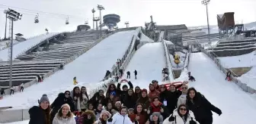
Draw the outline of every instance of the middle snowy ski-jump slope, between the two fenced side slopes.
[[[148,88],[153,79],[162,81],[162,69],[165,67],[164,48],[161,42],[147,43],[142,45],[133,55],[132,60],[126,67],[123,79],[126,79],[126,72],[131,73],[131,82],[134,87]],[[134,70],[137,70],[137,79],[134,78]],[[121,86],[122,87],[122,86]]]

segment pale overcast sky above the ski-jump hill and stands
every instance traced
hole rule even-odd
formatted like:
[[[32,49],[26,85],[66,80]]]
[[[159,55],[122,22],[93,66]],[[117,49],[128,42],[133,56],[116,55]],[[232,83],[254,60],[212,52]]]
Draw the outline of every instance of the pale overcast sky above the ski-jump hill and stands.
[[[201,0],[0,0],[0,37],[5,32],[5,14],[3,10],[8,5],[16,7],[16,11],[24,14],[22,20],[14,22],[14,33],[23,33],[24,37],[50,32],[75,30],[76,26],[88,19],[92,27],[91,9],[103,5],[102,14],[119,14],[119,27],[124,27],[125,21],[130,26],[144,26],[150,21],[150,15],[158,25],[186,24],[187,26],[206,25],[206,7]],[[215,25],[216,14],[235,12],[235,20],[249,23],[256,21],[256,0],[212,0],[209,5],[210,24]],[[56,14],[72,15],[69,25],[65,25],[66,16],[40,14],[40,23],[34,23],[37,12],[19,10],[26,8]],[[96,16],[99,12],[96,10]],[[74,17],[75,16],[75,17]]]

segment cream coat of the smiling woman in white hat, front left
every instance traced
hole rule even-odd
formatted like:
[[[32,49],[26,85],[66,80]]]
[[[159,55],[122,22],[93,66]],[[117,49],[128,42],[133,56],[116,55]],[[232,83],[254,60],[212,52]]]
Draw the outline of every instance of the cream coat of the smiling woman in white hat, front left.
[[[53,119],[53,124],[75,124],[74,115],[71,114],[66,119],[62,118],[61,116],[57,115]]]

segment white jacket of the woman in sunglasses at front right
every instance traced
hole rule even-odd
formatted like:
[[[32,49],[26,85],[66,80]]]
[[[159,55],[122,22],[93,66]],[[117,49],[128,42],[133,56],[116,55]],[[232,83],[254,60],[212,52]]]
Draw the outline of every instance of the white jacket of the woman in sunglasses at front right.
[[[173,121],[169,121],[169,118],[173,116],[174,120]],[[178,109],[175,109],[173,114],[171,114],[171,116],[169,116],[168,118],[166,118],[164,120],[164,122],[162,124],[190,124],[190,121],[194,121],[197,124],[200,124],[199,122],[197,122],[197,120],[194,118],[194,113],[189,110],[189,113],[187,113],[187,120],[184,122],[184,119],[178,114]]]

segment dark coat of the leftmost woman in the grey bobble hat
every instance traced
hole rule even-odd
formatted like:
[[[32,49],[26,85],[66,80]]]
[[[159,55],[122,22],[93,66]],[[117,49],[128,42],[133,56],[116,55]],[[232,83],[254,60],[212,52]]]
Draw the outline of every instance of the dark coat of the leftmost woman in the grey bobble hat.
[[[28,124],[46,124],[44,110],[38,106],[31,107],[28,110],[30,121]]]

